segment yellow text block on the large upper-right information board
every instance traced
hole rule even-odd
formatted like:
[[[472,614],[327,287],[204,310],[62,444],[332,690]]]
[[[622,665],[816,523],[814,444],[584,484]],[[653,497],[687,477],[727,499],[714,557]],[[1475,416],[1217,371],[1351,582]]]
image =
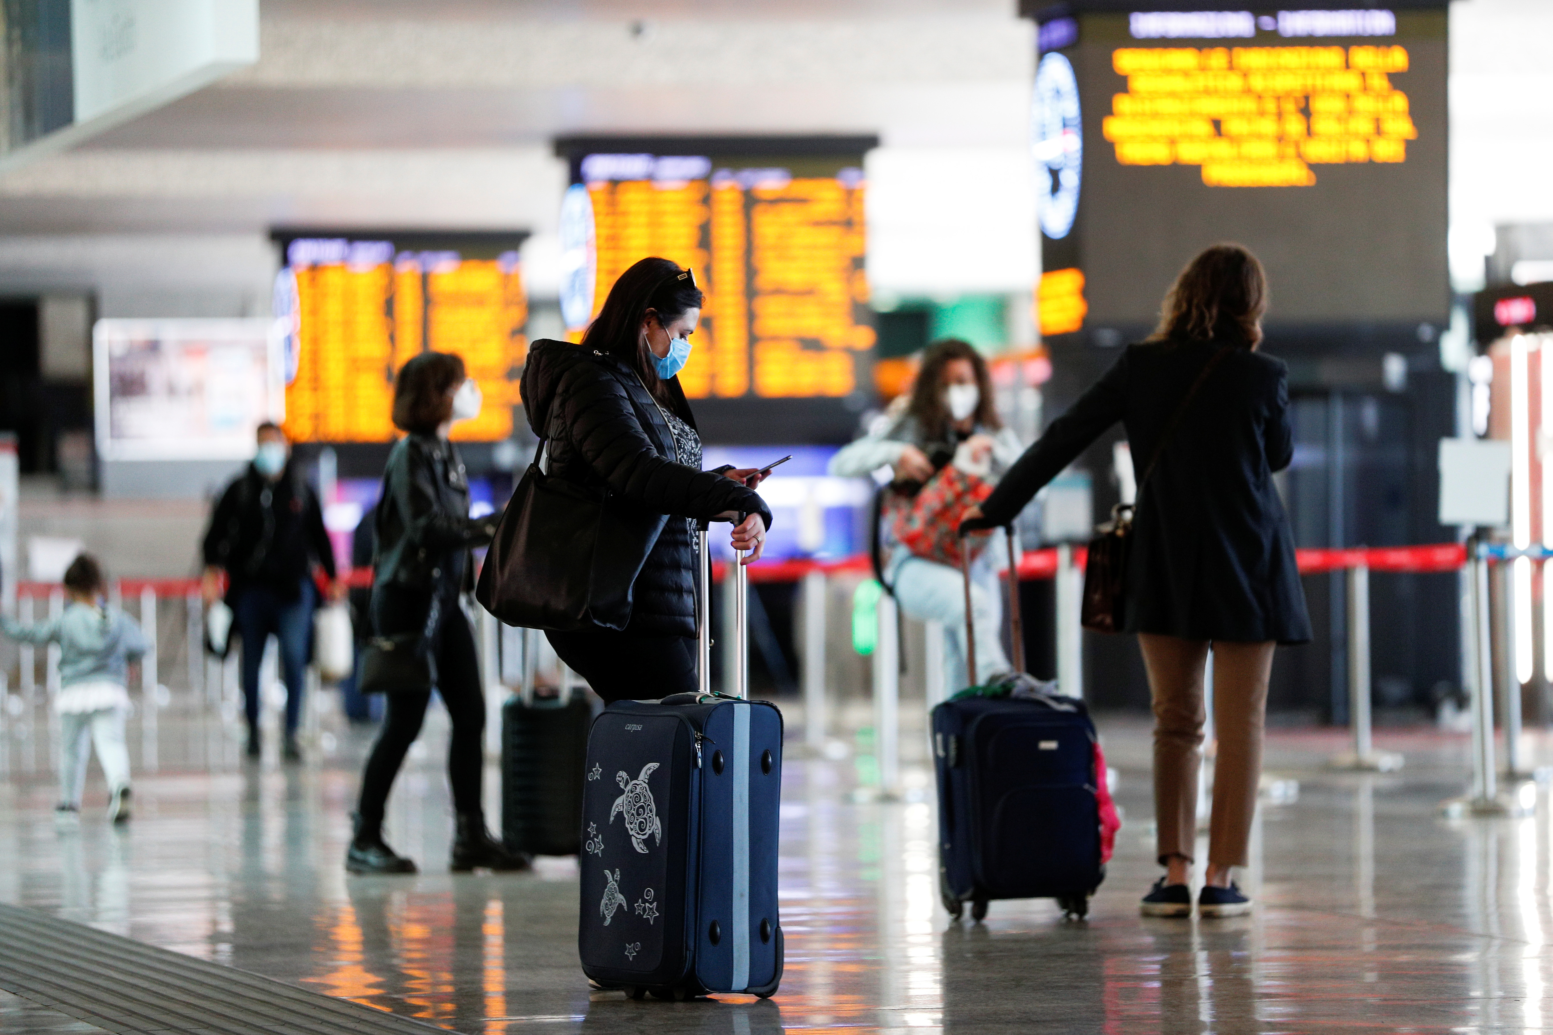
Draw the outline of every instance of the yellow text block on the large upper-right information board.
[[[1129,47],[1103,132],[1126,166],[1202,166],[1208,186],[1311,186],[1312,164],[1401,163],[1418,138],[1391,84],[1407,50]]]

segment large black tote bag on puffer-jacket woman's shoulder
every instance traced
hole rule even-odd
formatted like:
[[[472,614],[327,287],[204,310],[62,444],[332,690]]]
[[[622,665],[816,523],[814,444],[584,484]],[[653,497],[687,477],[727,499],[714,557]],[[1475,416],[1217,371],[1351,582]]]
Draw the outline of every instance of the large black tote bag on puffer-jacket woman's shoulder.
[[[502,514],[475,599],[508,625],[624,628],[631,590],[668,515],[547,475],[544,450],[540,442]]]

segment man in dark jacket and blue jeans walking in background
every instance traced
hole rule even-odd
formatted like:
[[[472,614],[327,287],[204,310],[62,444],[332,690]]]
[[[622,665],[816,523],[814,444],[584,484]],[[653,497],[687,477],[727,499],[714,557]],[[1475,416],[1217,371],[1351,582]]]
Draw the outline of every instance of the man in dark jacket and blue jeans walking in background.
[[[287,762],[295,762],[301,759],[297,720],[317,601],[314,565],[329,576],[334,596],[342,590],[318,497],[292,466],[286,433],[266,422],[258,428],[258,441],[253,462],[221,493],[205,532],[205,601],[216,599],[225,571],[227,604],[242,636],[248,757],[259,756],[259,663],[269,638],[278,641],[286,683],[281,751]]]

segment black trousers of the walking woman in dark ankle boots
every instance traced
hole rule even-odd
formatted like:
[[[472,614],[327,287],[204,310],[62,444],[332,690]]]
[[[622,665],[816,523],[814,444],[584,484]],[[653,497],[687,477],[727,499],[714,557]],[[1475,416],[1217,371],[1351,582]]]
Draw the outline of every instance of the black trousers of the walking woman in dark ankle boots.
[[[427,649],[436,658],[436,692],[447,706],[453,736],[447,745],[447,782],[453,808],[460,815],[481,816],[480,777],[485,768],[485,692],[480,686],[480,659],[469,619],[457,597],[438,599],[435,622],[429,621],[427,596],[396,587],[373,593],[373,628],[384,636],[427,628]],[[384,807],[404,756],[421,734],[430,691],[388,694],[377,743],[362,773],[362,796],[356,810],[365,829],[382,824]]]

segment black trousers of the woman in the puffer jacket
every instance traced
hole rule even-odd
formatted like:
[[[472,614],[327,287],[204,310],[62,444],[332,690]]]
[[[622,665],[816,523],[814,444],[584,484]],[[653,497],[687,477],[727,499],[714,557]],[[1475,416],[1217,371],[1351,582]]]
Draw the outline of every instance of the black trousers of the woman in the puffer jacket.
[[[696,641],[690,636],[631,636],[593,627],[545,633],[545,639],[604,703],[696,691]]]

